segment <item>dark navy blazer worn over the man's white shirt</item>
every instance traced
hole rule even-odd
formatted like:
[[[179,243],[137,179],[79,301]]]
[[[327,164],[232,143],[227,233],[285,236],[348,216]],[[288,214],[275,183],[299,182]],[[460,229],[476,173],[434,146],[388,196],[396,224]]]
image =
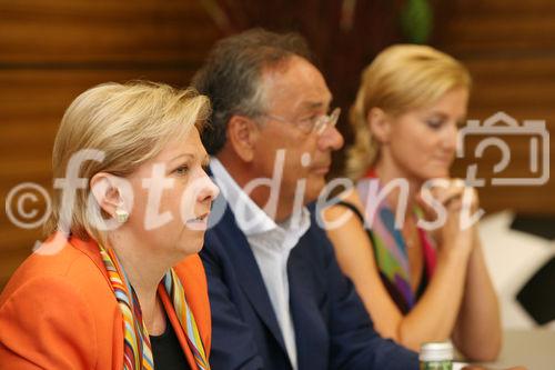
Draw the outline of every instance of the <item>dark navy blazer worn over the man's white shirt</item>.
[[[291,369],[254,254],[225,208],[222,219],[206,231],[201,251],[212,310],[212,368]],[[311,228],[287,261],[299,370],[417,369],[416,353],[374,331],[314,213],[311,209]]]

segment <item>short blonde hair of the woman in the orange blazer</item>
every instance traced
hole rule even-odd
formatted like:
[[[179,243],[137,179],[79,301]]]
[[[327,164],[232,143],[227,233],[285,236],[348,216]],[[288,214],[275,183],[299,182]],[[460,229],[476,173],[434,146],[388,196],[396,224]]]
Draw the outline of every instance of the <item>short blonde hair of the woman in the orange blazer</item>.
[[[193,89],[176,90],[162,83],[110,82],[81,93],[65,110],[56,137],[53,178],[65,178],[70,160],[84,149],[102,152],[103,160],[80,164],[78,177],[88,186],[71,194],[74,203],[69,211],[62,210],[67,207],[62,204],[63,191],[54,190],[46,231],[61,229],[83,240],[92,237],[105,242],[105,232],[94,227],[103,221],[102,212],[98,207],[88,207],[90,179],[98,172],[128,177],[158,156],[170,140],[184,139],[194,127],[201,131],[209,114],[206,97]]]

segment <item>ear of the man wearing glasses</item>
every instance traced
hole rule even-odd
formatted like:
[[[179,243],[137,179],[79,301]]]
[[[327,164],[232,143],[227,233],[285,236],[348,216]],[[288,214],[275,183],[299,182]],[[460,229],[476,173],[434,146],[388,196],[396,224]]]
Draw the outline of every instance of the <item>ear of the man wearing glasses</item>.
[[[236,156],[245,162],[254,159],[254,147],[259,137],[254,120],[244,116],[232,116],[228,122],[228,140]]]

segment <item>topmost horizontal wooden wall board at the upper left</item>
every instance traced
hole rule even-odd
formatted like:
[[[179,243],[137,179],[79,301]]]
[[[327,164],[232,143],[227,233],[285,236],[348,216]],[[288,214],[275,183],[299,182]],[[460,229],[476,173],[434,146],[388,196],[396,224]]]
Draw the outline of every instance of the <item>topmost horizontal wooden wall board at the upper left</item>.
[[[219,36],[194,0],[2,1],[0,14],[3,63],[194,68]]]

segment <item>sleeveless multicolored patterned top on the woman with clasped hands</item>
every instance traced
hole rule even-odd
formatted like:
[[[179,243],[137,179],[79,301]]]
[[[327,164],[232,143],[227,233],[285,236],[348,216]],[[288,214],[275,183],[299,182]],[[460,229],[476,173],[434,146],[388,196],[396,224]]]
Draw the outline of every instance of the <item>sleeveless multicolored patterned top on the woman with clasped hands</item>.
[[[381,194],[382,187],[375,172],[370,171],[356,183],[356,189],[362,203],[365,204],[365,214],[361,214],[353,204],[346,202],[341,202],[341,204],[353,210],[364,223],[372,241],[382,282],[400,311],[406,314],[416,304],[432,278],[436,263],[435,243],[425,230],[417,228],[424,254],[424,271],[422,281],[414,291],[411,286],[407,246],[401,229],[395,228],[395,213],[387,204],[385,197],[376,197],[376,194]],[[415,209],[414,213],[417,219],[423,216],[420,209]]]

